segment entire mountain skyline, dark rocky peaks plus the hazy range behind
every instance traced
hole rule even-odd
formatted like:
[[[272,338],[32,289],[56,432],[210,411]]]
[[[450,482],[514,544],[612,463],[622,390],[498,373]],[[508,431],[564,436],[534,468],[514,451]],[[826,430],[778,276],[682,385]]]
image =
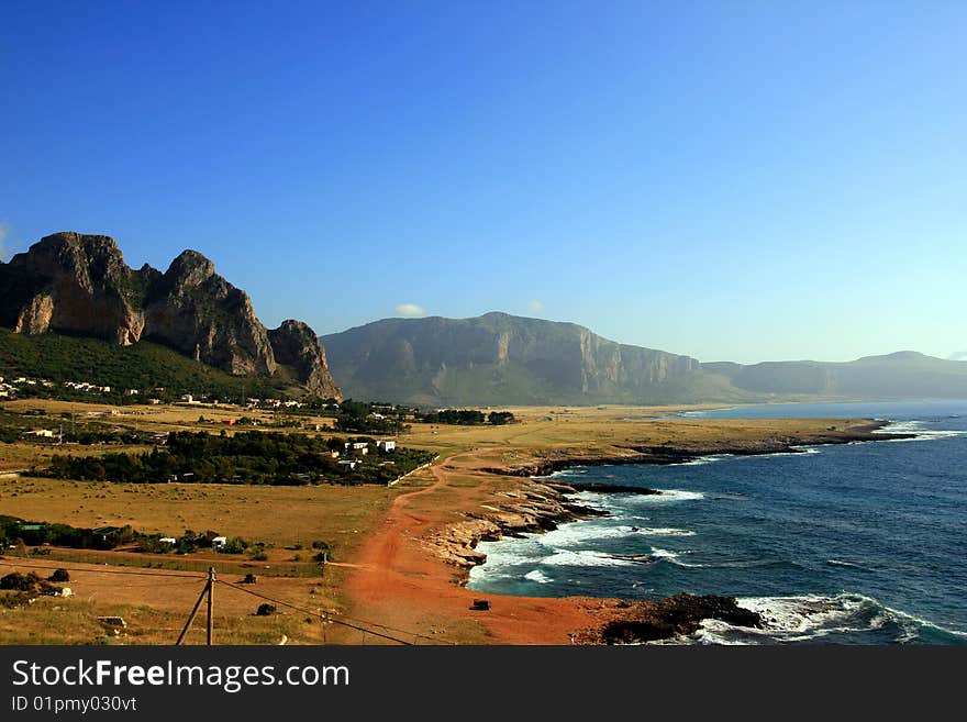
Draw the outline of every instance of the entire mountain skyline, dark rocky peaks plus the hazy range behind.
[[[31,363],[31,354],[44,353],[56,354],[54,366],[73,378],[71,353],[81,348],[100,359],[99,368],[143,367],[154,363],[145,359],[164,354],[147,346],[138,354],[108,348],[154,342],[198,362],[202,370],[273,379],[276,388],[323,398],[420,406],[967,398],[967,362],[914,352],[838,364],[703,364],[609,341],[574,323],[496,312],[474,319],[385,319],[322,338],[300,321],[269,330],[255,316],[248,296],[196,251],[181,253],[165,273],[148,265],[134,270],[113,238],[70,232],[46,236],[10,263],[0,262],[4,326],[14,333],[0,334],[0,376],[4,367],[27,373],[41,364]],[[14,343],[23,340],[18,334],[48,332],[115,346],[80,346],[67,336],[46,345]],[[74,370],[90,369],[92,363],[77,358]],[[179,369],[178,378],[191,376],[182,363],[168,365]],[[130,370],[120,377],[133,378]]]

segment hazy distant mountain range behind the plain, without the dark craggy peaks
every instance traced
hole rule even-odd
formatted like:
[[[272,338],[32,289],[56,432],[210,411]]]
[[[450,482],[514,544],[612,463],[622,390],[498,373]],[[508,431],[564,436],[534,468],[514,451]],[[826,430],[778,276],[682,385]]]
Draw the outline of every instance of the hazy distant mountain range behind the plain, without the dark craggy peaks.
[[[700,363],[574,323],[487,313],[385,319],[322,336],[347,397],[430,406],[967,398],[967,363],[899,352],[848,363]]]

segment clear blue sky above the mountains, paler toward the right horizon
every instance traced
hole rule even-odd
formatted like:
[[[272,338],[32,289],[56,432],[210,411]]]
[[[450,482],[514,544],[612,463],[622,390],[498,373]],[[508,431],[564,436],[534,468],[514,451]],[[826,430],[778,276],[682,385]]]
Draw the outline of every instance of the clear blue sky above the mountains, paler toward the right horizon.
[[[967,3],[0,5],[0,254],[185,248],[266,325],[967,351]]]

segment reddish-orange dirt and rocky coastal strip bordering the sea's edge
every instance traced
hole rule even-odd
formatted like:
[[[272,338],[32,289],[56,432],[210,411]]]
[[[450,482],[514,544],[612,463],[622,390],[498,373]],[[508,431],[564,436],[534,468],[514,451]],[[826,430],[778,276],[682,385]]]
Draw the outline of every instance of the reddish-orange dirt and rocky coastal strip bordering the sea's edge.
[[[344,593],[357,614],[449,644],[640,642],[687,634],[708,618],[756,625],[757,614],[724,597],[487,595],[490,608],[479,610],[475,600],[485,595],[463,585],[469,569],[486,560],[476,551],[481,540],[540,533],[603,513],[575,503],[574,485],[532,477],[571,466],[673,464],[910,436],[875,433],[883,422],[868,419],[632,420],[626,409],[614,408],[514,413],[521,422],[511,426],[418,427],[403,440],[441,451],[441,458],[401,485],[385,523],[354,559]]]

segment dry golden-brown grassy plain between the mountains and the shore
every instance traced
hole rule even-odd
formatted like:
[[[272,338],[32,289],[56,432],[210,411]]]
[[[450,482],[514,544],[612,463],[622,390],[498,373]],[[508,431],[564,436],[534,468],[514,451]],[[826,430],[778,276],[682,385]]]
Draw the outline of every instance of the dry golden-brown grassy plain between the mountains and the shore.
[[[207,429],[234,433],[222,420],[237,418],[238,409],[229,407],[125,407],[112,409],[103,404],[60,401],[23,400],[3,404],[12,412],[43,411],[47,421],[63,414],[90,423],[141,430],[171,431]],[[443,426],[413,424],[399,437],[402,446],[438,452],[447,462],[446,484],[440,484],[438,469],[414,473],[393,488],[363,486],[269,487],[240,485],[158,484],[132,485],[58,480],[24,474],[2,474],[4,469],[43,467],[53,454],[99,454],[104,451],[131,451],[119,446],[57,446],[27,443],[0,444],[0,511],[31,521],[59,522],[73,526],[98,527],[130,524],[146,533],[177,536],[185,530],[215,531],[226,536],[242,536],[267,545],[267,558],[256,562],[246,555],[222,555],[202,552],[185,556],[144,555],[123,552],[77,552],[52,549],[49,556],[8,555],[0,558],[0,576],[11,570],[29,571],[44,567],[46,575],[55,567],[70,569],[75,596],[40,598],[30,607],[4,608],[0,603],[0,643],[63,644],[167,644],[177,637],[184,620],[203,584],[202,570],[210,564],[230,586],[216,587],[215,640],[225,644],[360,643],[366,640],[355,630],[324,624],[315,612],[353,613],[366,618],[375,608],[347,597],[345,575],[368,570],[356,565],[367,558],[362,549],[368,540],[379,535],[394,499],[426,489],[429,493],[411,496],[408,516],[398,520],[400,548],[413,558],[425,555],[419,534],[437,533],[446,524],[462,518],[462,511],[480,503],[494,492],[511,489],[513,477],[480,474],[482,465],[507,464],[515,457],[548,451],[570,454],[611,454],[634,445],[705,443],[714,440],[755,440],[765,435],[804,434],[821,431],[827,421],[700,421],[693,419],[658,419],[668,409],[601,407],[520,408],[511,409],[518,422],[504,426]],[[212,423],[199,424],[203,414]],[[257,412],[270,423],[275,414]],[[252,414],[249,414],[252,415]],[[33,416],[32,416],[33,418]],[[43,425],[42,418],[37,418]],[[304,419],[305,423],[329,423],[323,418]],[[78,422],[79,423],[79,422]],[[48,423],[49,426],[49,423]],[[331,435],[331,430],[320,433]],[[433,488],[430,488],[430,487]],[[468,506],[470,504],[470,506]],[[409,530],[409,524],[413,524]],[[408,531],[409,530],[409,531]],[[332,546],[331,563],[322,577],[312,573],[312,542]],[[393,542],[397,543],[397,542]],[[27,551],[30,554],[30,551]],[[409,557],[408,557],[409,558]],[[253,566],[245,566],[245,565]],[[434,563],[435,564],[435,563]],[[426,566],[433,574],[453,576],[453,570]],[[378,565],[377,565],[378,566]],[[307,567],[309,567],[307,569]],[[420,565],[413,568],[423,569]],[[180,570],[179,570],[180,569]],[[254,615],[263,601],[237,585],[243,573],[252,569],[257,585],[245,587],[273,599],[294,604],[298,610],[279,607],[271,617]],[[378,569],[371,569],[374,574]],[[311,576],[305,576],[305,575]],[[423,570],[403,573],[403,584],[418,584]],[[301,576],[299,576],[301,575]],[[0,592],[0,597],[9,592]],[[379,620],[396,620],[403,629],[404,617],[393,617],[392,599],[379,612]],[[2,602],[2,599],[0,599]],[[522,608],[524,609],[524,608]],[[118,614],[127,627],[120,635],[105,634],[98,617]],[[460,613],[463,614],[463,613]],[[481,643],[489,632],[474,619],[460,614],[448,619],[449,634],[459,630],[463,642]],[[430,614],[420,614],[420,629],[433,633],[437,623]],[[375,624],[377,620],[369,620]],[[193,632],[190,642],[201,637]],[[203,641],[203,640],[202,640]]]

